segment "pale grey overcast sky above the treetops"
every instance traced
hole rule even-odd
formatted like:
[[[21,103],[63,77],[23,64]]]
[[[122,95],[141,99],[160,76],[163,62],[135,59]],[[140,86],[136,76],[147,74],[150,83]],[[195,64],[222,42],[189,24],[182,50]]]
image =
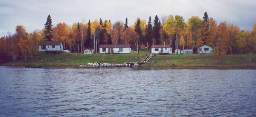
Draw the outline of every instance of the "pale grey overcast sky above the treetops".
[[[27,32],[43,29],[47,15],[53,26],[65,22],[99,19],[124,22],[128,25],[137,17],[147,20],[158,17],[181,15],[185,20],[207,11],[217,23],[226,21],[251,30],[256,23],[256,0],[0,0],[0,36],[15,33],[15,26],[23,25]]]

